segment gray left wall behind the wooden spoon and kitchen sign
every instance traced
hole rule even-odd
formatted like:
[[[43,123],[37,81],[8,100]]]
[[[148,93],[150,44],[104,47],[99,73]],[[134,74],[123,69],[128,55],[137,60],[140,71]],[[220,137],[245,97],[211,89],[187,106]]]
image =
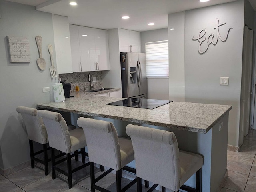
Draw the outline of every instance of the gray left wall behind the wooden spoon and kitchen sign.
[[[37,103],[52,100],[52,94],[42,93],[42,87],[52,84],[47,45],[54,45],[54,35],[52,15],[36,11],[34,6],[0,0],[0,13],[0,169],[6,170],[29,160],[28,138],[17,118],[16,107],[36,108]],[[39,57],[37,35],[42,36],[44,71],[36,64]],[[10,63],[6,36],[28,38],[31,62]]]

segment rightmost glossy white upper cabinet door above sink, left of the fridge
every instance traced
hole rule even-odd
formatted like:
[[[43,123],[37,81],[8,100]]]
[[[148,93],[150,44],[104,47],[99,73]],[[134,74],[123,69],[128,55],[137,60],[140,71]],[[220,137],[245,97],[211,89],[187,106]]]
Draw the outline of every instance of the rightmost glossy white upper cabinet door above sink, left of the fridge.
[[[108,31],[94,29],[96,65],[91,70],[110,70],[109,49],[108,49]]]

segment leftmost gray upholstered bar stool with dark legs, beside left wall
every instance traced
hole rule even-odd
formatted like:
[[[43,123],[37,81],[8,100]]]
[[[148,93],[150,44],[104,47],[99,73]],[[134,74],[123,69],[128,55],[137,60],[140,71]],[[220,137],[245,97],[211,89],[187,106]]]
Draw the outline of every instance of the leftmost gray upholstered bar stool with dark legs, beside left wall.
[[[44,164],[45,175],[48,175],[48,161],[50,161],[50,159],[48,159],[47,154],[48,138],[44,122],[42,118],[37,116],[37,110],[34,108],[19,106],[16,108],[16,111],[21,114],[23,122],[26,125],[30,148],[31,168],[35,167],[34,161],[40,162]],[[33,141],[42,144],[43,150],[34,153]],[[44,160],[35,157],[40,153],[44,154]]]

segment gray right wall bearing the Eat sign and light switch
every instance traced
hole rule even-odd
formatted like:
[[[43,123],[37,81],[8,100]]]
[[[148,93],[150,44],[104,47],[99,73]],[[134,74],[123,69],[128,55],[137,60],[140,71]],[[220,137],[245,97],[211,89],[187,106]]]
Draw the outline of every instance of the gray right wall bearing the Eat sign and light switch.
[[[210,44],[204,54],[198,53],[198,36],[206,28],[206,37],[216,36],[216,18],[220,35],[230,30],[226,42]],[[244,30],[244,0],[186,11],[185,14],[185,92],[186,102],[232,105],[229,114],[228,144],[238,146],[242,49]],[[229,77],[229,85],[221,86],[220,77]]]

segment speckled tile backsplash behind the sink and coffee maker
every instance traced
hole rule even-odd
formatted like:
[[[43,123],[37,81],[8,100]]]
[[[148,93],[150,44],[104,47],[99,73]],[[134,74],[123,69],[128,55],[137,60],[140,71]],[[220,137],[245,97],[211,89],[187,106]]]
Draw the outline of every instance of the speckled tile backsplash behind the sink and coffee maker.
[[[88,79],[89,73],[91,74],[91,81],[93,89],[102,88],[102,72],[101,71],[92,71],[92,72],[74,72],[67,74],[59,74],[61,80],[66,80],[65,83],[71,84],[70,92],[76,91],[76,85],[79,86],[80,91],[90,89],[90,82]],[[96,82],[93,82],[92,78],[96,77]]]

